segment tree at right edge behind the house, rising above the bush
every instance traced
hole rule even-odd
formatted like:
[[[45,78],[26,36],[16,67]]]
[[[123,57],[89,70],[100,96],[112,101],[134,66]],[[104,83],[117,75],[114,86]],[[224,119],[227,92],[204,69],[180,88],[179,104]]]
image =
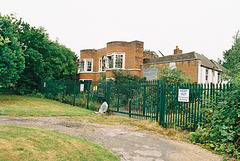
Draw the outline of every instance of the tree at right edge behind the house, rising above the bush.
[[[239,70],[240,65],[240,31],[233,37],[234,42],[232,48],[223,53],[223,61],[221,64],[228,69],[228,78],[233,78]]]

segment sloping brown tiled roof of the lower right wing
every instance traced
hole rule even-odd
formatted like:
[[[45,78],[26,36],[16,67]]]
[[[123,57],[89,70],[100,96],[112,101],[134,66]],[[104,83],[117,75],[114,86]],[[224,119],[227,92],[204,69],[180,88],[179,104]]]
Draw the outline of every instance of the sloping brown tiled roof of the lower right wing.
[[[200,60],[201,66],[206,68],[215,69],[218,71],[227,70],[216,61],[209,60],[204,55],[198,54],[194,51],[190,53],[168,55],[168,56],[159,57],[159,58],[145,58],[143,60],[143,65],[144,64],[164,64],[164,63],[170,63],[170,62],[182,62],[182,61],[192,61],[192,60]]]

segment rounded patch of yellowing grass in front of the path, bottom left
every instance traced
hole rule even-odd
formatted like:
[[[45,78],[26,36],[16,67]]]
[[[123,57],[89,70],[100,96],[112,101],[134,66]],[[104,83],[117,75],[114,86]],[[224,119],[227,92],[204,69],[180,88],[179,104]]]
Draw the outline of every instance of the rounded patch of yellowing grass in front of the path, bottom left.
[[[0,160],[119,160],[107,149],[56,131],[0,125]]]

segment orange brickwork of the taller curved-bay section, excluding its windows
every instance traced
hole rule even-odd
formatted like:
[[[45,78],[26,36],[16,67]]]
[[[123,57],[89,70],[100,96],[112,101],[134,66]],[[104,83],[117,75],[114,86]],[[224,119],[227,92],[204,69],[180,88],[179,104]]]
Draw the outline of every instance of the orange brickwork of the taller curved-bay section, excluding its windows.
[[[122,42],[114,41],[107,43],[107,47],[103,49],[87,49],[81,50],[81,59],[93,59],[93,72],[80,73],[79,79],[91,79],[94,82],[101,78],[99,74],[99,58],[102,56],[107,57],[108,53],[125,53],[125,70],[124,72],[130,72],[132,74],[140,76],[141,64],[143,63],[143,51],[144,43],[141,41]],[[145,56],[148,56],[145,54]],[[150,56],[149,56],[150,57]],[[130,69],[130,70],[129,70]],[[112,78],[113,73],[111,70],[106,70],[106,77]]]

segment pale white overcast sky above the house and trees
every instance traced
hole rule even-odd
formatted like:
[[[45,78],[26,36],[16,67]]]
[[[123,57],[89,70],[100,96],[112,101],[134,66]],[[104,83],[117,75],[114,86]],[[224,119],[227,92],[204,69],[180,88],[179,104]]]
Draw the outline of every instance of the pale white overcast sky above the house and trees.
[[[16,13],[42,26],[52,40],[79,55],[110,41],[144,42],[173,54],[195,51],[222,58],[240,30],[240,0],[0,0],[2,15]]]

